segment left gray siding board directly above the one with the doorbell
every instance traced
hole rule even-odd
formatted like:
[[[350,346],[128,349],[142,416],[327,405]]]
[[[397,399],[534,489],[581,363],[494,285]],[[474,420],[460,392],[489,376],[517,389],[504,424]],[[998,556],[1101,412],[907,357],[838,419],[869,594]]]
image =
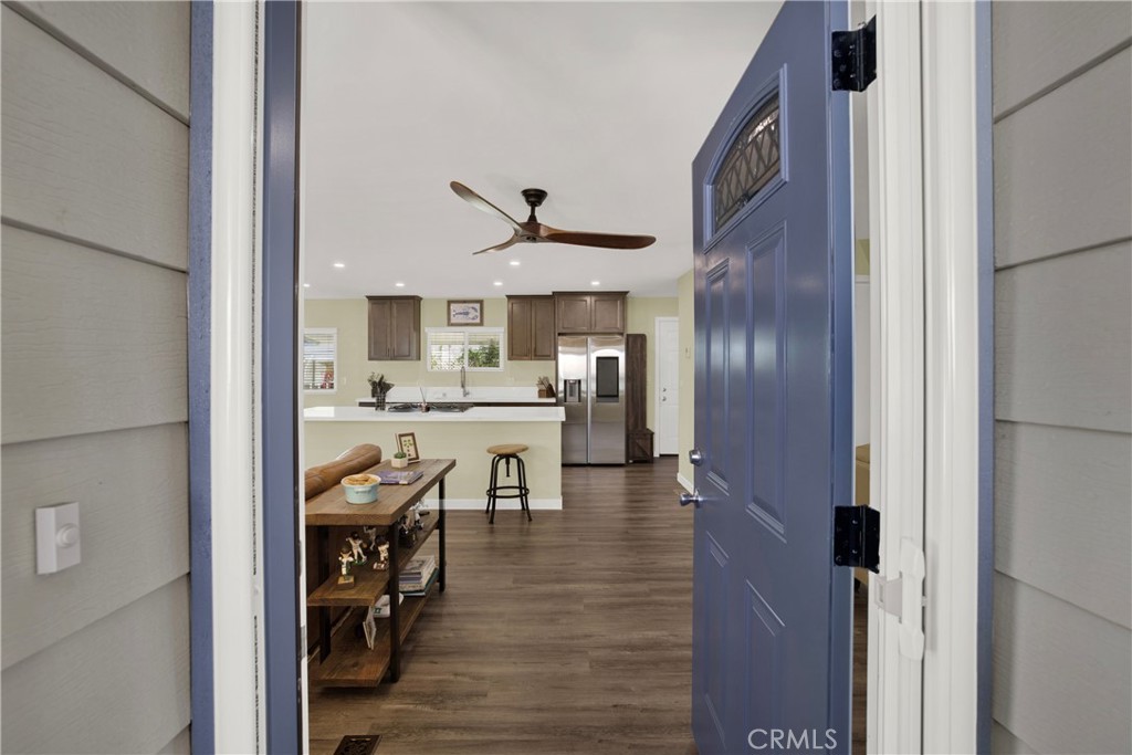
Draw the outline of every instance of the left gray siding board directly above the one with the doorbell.
[[[5,226],[3,443],[185,422],[186,275]]]

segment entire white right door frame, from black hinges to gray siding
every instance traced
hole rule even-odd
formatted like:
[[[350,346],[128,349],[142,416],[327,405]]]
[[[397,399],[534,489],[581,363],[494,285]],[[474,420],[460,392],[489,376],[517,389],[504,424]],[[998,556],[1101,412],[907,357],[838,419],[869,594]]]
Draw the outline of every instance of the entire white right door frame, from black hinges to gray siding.
[[[880,576],[908,541],[927,599],[923,660],[871,601],[867,750],[974,753],[989,744],[989,12],[868,5],[872,499]]]

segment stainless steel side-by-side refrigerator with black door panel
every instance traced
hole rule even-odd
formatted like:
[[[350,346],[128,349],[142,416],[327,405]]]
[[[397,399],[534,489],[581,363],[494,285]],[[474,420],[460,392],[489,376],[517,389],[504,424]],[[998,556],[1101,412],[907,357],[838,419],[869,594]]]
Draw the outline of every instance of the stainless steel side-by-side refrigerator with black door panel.
[[[625,463],[625,337],[558,336],[563,464]]]

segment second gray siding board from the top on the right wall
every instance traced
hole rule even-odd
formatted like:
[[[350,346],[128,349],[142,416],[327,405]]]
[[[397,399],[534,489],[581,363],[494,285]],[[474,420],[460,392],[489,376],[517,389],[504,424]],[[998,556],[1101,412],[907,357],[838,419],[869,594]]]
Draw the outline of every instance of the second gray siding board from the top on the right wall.
[[[1130,89],[1125,50],[995,125],[998,267],[1132,237]]]

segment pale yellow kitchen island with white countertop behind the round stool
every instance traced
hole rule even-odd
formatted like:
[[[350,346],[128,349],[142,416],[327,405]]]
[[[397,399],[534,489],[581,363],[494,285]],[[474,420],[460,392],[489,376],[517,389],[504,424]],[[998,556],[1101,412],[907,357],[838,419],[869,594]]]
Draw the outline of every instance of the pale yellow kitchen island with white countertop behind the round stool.
[[[396,451],[395,435],[412,432],[421,456],[455,458],[447,478],[448,511],[482,511],[491,457],[487,447],[521,443],[531,508],[561,508],[561,423],[559,406],[473,406],[463,412],[387,412],[361,406],[312,406],[303,412],[306,460],[334,458],[360,443]],[[410,465],[412,467],[412,465]],[[512,474],[515,470],[512,469]],[[426,499],[428,500],[428,499]],[[518,508],[500,500],[499,508]]]

